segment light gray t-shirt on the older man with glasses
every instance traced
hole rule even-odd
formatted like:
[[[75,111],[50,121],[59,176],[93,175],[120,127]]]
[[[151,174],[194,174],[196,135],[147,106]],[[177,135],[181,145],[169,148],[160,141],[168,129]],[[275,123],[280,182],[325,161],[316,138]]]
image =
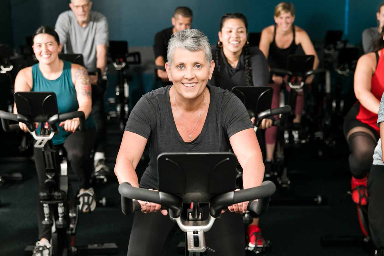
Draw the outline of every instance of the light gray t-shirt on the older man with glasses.
[[[77,23],[74,13],[69,10],[59,15],[55,30],[65,53],[81,53],[86,69],[96,68],[96,46],[108,46],[107,18],[98,12],[89,13],[89,23],[83,28]]]

